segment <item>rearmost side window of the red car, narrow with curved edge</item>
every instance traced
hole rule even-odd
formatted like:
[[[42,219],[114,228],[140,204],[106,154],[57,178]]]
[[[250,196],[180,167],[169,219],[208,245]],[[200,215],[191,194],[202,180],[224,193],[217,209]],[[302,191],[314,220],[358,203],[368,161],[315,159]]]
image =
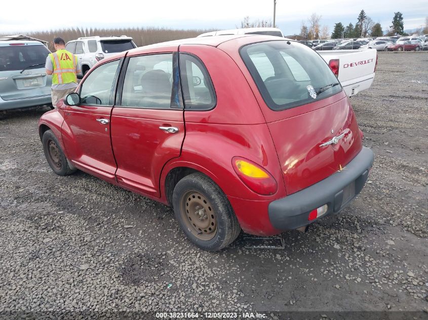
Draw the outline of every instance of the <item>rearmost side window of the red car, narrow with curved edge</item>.
[[[185,108],[207,110],[215,107],[216,96],[211,78],[198,58],[180,54],[180,77]]]

